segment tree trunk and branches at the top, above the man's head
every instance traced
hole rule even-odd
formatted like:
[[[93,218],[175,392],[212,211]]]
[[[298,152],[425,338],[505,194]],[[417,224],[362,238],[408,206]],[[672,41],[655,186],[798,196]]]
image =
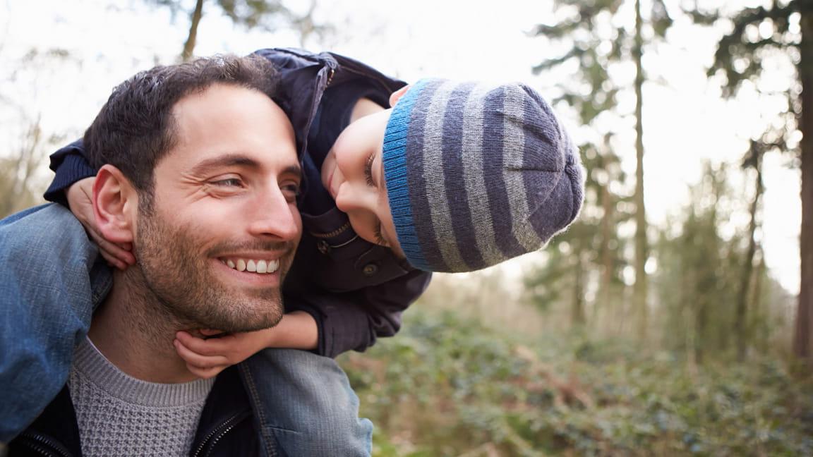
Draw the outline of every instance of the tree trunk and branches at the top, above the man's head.
[[[327,24],[318,24],[313,20],[317,1],[311,0],[309,9],[298,14],[286,7],[280,0],[195,0],[194,7],[188,9],[184,0],[147,0],[147,2],[169,7],[173,15],[189,15],[189,33],[187,34],[180,59],[184,62],[192,59],[198,41],[198,27],[206,12],[207,4],[214,4],[216,9],[227,15],[234,24],[246,28],[263,28],[271,31],[280,27],[293,28],[299,33],[300,46],[304,46],[307,37],[322,34],[330,29]]]

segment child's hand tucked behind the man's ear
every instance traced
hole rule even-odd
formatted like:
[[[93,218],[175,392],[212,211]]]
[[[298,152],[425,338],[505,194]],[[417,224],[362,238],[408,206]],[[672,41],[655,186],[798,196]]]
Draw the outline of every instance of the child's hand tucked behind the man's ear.
[[[126,270],[129,265],[136,263],[136,258],[130,250],[133,246],[130,243],[116,244],[108,242],[102,233],[99,233],[96,226],[96,217],[93,215],[93,181],[96,178],[85,178],[81,181],[76,181],[67,188],[65,195],[67,197],[67,204],[71,207],[71,212],[76,216],[82,225],[85,226],[85,231],[99,246],[99,253],[115,268]]]

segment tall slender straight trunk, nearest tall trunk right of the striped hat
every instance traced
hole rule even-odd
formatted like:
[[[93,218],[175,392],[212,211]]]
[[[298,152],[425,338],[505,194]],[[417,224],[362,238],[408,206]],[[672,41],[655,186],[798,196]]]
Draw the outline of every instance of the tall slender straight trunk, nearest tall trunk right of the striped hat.
[[[635,2],[635,45],[633,46],[633,59],[635,60],[635,151],[637,168],[635,170],[635,286],[633,300],[637,313],[638,337],[646,339],[646,330],[649,326],[649,310],[646,305],[646,208],[644,207],[644,128],[643,128],[643,86],[644,68],[642,63],[643,19],[641,18],[641,0]]]

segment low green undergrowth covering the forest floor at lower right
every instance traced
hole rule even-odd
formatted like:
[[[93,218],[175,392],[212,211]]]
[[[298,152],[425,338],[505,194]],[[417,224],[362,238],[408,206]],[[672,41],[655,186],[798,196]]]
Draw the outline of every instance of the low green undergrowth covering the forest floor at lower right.
[[[377,456],[813,453],[813,384],[772,359],[686,369],[617,340],[522,341],[416,309],[341,363]]]

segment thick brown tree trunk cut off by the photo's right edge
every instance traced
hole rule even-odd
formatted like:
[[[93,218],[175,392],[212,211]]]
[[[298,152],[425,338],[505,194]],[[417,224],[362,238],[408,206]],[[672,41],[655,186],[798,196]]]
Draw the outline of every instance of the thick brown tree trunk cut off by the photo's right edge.
[[[807,6],[805,6],[807,5]],[[802,42],[799,46],[799,79],[802,81],[802,229],[799,234],[799,253],[802,277],[799,283],[799,302],[793,352],[808,365],[813,364],[813,10],[802,2]]]

